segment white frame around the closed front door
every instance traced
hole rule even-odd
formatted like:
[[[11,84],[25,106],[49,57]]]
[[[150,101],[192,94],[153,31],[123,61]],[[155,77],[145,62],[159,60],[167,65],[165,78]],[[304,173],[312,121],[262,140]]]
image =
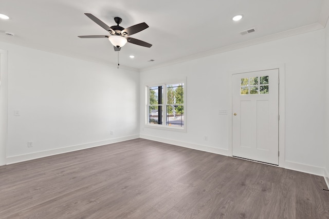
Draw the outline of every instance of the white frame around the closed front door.
[[[285,167],[285,64],[269,64],[245,69],[237,69],[229,73],[229,107],[228,110],[228,155],[232,156],[232,76],[233,74],[248,73],[254,71],[279,70],[279,167]],[[276,166],[276,165],[273,165]]]

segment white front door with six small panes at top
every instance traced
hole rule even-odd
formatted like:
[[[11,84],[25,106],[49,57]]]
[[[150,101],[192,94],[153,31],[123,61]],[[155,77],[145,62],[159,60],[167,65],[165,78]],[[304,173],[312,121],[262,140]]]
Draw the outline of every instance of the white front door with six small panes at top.
[[[279,69],[232,75],[232,155],[279,165]]]

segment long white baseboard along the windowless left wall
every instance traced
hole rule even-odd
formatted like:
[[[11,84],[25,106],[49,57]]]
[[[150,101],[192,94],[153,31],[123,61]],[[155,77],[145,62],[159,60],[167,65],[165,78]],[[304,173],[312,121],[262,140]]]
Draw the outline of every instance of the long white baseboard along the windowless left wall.
[[[6,164],[19,163],[19,162],[23,162],[23,161],[34,160],[36,158],[41,158],[41,157],[45,157],[45,156],[52,156],[52,155],[67,153],[67,152],[71,152],[71,151],[93,148],[93,147],[113,144],[113,143],[117,143],[117,142],[133,140],[136,138],[139,138],[139,135],[124,136],[124,137],[113,138],[113,139],[104,140],[104,141],[100,141],[100,142],[92,142],[92,143],[87,143],[87,144],[82,144],[82,145],[68,146],[65,148],[57,148],[57,149],[52,149],[52,150],[47,150],[47,151],[39,151],[39,152],[34,152],[34,153],[11,156],[11,157],[6,158]]]

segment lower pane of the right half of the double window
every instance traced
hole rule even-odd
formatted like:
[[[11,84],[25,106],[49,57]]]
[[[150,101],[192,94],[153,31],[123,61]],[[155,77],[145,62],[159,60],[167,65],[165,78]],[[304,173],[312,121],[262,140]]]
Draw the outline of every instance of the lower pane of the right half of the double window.
[[[167,105],[166,125],[184,127],[184,106]]]

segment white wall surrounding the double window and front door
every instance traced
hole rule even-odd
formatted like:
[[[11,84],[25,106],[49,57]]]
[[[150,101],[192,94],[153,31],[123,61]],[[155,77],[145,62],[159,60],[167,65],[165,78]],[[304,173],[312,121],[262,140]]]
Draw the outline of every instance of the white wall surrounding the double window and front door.
[[[230,121],[228,116],[218,115],[218,110],[231,110],[228,95],[231,89],[230,72],[277,63],[285,64],[286,75],[286,163],[296,164],[295,169],[302,170],[306,167],[308,172],[312,172],[312,169],[323,171],[323,99],[326,96],[324,30],[140,72],[141,136],[192,148],[199,147],[200,150],[214,148],[218,153],[227,153]],[[185,76],[187,132],[145,127],[144,86]],[[208,136],[208,141],[204,141],[205,135]]]

